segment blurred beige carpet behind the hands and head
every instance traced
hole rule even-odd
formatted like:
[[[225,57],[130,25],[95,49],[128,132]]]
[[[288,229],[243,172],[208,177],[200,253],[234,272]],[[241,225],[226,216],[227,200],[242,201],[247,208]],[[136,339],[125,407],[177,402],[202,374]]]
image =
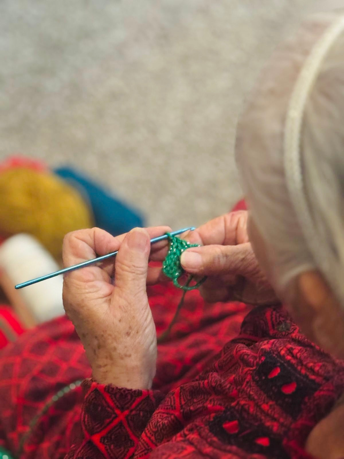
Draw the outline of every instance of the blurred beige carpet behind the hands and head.
[[[328,3],[328,2],[327,2]],[[1,0],[0,157],[70,163],[174,229],[240,196],[244,95],[314,0]]]

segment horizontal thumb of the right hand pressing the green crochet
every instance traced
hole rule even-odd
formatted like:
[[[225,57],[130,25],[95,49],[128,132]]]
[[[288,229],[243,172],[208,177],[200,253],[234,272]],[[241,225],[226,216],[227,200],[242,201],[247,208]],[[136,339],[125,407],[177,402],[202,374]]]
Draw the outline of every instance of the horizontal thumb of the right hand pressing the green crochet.
[[[188,273],[200,276],[250,276],[250,272],[255,270],[257,265],[249,242],[237,246],[192,247],[182,253],[180,262]]]

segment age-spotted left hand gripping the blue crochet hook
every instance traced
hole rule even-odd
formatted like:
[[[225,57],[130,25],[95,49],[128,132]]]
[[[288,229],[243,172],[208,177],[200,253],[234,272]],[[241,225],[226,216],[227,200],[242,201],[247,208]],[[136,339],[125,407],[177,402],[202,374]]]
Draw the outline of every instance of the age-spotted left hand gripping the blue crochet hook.
[[[113,237],[99,228],[66,235],[64,266],[118,250],[115,259],[65,274],[63,304],[83,343],[94,379],[131,389],[150,388],[156,332],[146,294],[150,238],[169,227],[136,228]],[[152,246],[152,254],[167,241]],[[113,277],[114,276],[114,277]]]

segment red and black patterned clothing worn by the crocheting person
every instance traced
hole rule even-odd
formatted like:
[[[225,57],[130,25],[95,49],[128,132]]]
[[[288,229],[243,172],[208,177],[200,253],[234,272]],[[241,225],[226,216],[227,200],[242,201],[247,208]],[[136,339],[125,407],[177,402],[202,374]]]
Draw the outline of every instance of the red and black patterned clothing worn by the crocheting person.
[[[158,335],[181,292],[149,289]],[[344,363],[306,340],[283,308],[186,296],[158,350],[153,390],[86,379],[42,416],[29,458],[298,458],[344,390]],[[237,337],[235,337],[237,336]],[[18,453],[29,423],[61,387],[90,376],[72,324],[55,319],[0,353],[0,445]],[[81,422],[80,422],[81,420]]]

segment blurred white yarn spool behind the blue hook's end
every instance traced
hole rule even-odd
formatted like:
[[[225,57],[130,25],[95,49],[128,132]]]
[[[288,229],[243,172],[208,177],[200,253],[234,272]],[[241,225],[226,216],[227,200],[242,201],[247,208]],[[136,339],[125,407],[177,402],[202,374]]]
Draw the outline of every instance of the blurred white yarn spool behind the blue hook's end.
[[[0,268],[14,285],[60,269],[54,258],[33,236],[18,234],[0,246]],[[20,295],[38,323],[64,314],[62,276],[56,276],[21,290]]]

